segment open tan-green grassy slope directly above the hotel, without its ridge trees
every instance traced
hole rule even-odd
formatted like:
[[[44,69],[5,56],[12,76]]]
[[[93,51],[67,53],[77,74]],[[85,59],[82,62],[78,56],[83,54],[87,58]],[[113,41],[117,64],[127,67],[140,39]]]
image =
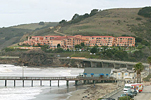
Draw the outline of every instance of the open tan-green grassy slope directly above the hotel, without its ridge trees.
[[[145,21],[143,17],[137,15],[139,9],[119,8],[100,11],[79,23],[64,26],[60,31],[68,35],[135,35],[130,31],[129,25],[137,25]],[[144,20],[138,21],[136,18]]]

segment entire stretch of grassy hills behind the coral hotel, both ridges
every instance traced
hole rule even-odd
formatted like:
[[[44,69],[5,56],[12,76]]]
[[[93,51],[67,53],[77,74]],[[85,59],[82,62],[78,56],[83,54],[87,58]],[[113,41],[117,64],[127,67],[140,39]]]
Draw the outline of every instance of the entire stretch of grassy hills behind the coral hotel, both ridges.
[[[39,22],[2,28],[0,29],[0,49],[24,41],[27,36],[38,35],[135,36],[141,41],[145,41],[145,45],[148,45],[151,41],[151,18],[138,15],[140,9],[142,8],[94,10],[95,14],[93,14],[92,10],[90,14],[75,14],[76,16],[73,16],[70,21],[64,20],[65,24],[58,24],[57,22],[44,22],[41,24]],[[76,19],[79,16],[82,16],[81,20]]]

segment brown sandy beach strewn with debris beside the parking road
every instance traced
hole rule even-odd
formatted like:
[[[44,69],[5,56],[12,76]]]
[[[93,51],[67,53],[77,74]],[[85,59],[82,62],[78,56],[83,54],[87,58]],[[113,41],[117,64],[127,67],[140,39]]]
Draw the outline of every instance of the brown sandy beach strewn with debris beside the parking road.
[[[118,88],[115,83],[99,83],[86,86],[87,89],[72,92],[67,100],[97,100]]]

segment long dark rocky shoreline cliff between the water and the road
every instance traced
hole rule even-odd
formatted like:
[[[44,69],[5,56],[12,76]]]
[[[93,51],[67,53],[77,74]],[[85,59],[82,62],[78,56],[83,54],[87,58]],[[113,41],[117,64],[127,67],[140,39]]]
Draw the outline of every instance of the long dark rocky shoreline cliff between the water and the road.
[[[15,53],[13,53],[15,54]],[[15,55],[13,55],[15,56]],[[42,50],[30,50],[21,52],[16,55],[19,59],[0,59],[1,64],[14,64],[20,66],[35,66],[35,67],[89,67],[89,62],[83,62],[74,59],[59,59],[58,57],[51,57]]]

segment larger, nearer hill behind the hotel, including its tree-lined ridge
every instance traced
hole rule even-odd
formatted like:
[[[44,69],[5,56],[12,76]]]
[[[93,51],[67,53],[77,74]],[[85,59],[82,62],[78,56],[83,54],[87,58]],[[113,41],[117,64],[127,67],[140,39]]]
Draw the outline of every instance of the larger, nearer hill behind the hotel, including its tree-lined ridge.
[[[75,14],[70,21],[62,20],[57,27],[43,28],[30,35],[111,35],[135,36],[151,41],[151,18],[138,15],[142,8],[116,8],[97,11],[95,14]],[[92,10],[93,11],[93,10]],[[92,12],[91,11],[91,12]],[[80,16],[80,17],[79,17]],[[77,18],[79,17],[79,19]],[[76,19],[74,19],[76,18]]]

